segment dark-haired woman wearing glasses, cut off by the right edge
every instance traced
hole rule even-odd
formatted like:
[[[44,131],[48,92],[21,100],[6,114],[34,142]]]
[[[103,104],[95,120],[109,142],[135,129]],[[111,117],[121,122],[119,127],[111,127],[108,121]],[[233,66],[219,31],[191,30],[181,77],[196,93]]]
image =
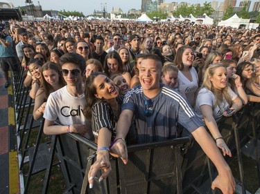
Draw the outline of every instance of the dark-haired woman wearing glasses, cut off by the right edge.
[[[236,66],[236,74],[241,77],[241,85],[248,95],[248,101],[260,101],[260,87],[253,81],[254,66],[250,62],[242,62]]]

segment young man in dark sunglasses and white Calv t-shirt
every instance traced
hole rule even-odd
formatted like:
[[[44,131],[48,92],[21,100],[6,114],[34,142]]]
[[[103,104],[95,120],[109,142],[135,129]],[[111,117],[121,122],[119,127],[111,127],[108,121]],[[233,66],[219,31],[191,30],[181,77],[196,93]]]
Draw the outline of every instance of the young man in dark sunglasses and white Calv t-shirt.
[[[76,53],[65,53],[60,57],[60,67],[67,86],[51,93],[44,110],[44,133],[59,135],[79,133],[93,139],[90,122],[83,114],[86,100],[83,88],[85,59]],[[60,122],[54,125],[55,120]]]

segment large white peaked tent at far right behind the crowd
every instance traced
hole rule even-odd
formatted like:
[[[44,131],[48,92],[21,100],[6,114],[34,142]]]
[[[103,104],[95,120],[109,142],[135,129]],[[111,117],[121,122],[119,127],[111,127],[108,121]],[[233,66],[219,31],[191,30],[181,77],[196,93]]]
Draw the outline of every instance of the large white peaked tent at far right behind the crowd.
[[[236,14],[226,20],[221,20],[218,22],[218,26],[230,26],[232,28],[239,28],[239,26],[243,25],[246,29],[248,28],[255,28],[254,25],[257,27],[259,26],[258,23],[249,23],[250,19],[241,19]]]

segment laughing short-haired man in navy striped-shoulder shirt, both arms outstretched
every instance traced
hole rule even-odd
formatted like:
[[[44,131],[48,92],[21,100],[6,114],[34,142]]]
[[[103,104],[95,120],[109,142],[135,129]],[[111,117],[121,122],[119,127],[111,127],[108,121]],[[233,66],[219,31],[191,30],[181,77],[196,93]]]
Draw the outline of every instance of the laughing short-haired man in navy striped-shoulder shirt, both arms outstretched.
[[[218,176],[211,188],[218,187],[223,193],[234,193],[232,172],[220,154],[216,143],[204,128],[202,121],[193,113],[189,103],[177,91],[160,84],[162,62],[156,55],[146,55],[141,61],[139,79],[141,86],[125,95],[121,115],[116,123],[116,142],[111,152],[128,163],[128,151],[123,138],[128,133],[133,115],[137,125],[138,143],[158,142],[177,137],[177,122],[187,128],[203,151],[215,164]],[[94,169],[95,170],[95,169]],[[89,177],[92,172],[89,172]],[[107,173],[103,178],[107,177]],[[89,179],[89,184],[94,180]]]

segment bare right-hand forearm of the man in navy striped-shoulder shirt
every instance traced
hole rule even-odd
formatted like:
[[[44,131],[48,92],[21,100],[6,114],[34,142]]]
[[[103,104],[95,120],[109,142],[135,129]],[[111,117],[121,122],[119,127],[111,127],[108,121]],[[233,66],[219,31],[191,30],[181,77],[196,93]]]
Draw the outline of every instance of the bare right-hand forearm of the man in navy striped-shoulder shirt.
[[[211,185],[211,188],[220,188],[224,194],[233,194],[235,191],[235,181],[232,175],[232,171],[220,154],[216,144],[213,139],[207,133],[203,126],[200,126],[191,133],[196,139],[198,144],[200,144],[202,150],[211,159],[218,170],[218,176]]]

